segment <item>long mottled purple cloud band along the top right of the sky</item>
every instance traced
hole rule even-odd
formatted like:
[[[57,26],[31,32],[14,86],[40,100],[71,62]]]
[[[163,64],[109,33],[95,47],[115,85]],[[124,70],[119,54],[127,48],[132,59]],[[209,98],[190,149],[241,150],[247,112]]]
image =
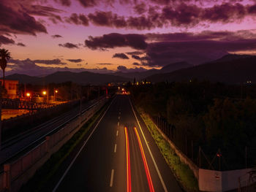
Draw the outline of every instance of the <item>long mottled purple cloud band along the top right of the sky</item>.
[[[178,1],[177,1],[178,2]],[[89,23],[95,26],[108,26],[112,28],[130,28],[137,30],[150,30],[163,26],[192,27],[199,23],[233,23],[240,22],[246,15],[256,15],[256,5],[244,5],[232,2],[223,2],[211,7],[199,7],[197,4],[185,4],[179,1],[173,6],[149,6],[145,2],[135,4],[134,11],[140,16],[122,16],[111,11],[97,10],[89,15],[83,15],[85,26]],[[143,14],[143,15],[142,15]],[[75,13],[67,19],[69,23],[80,24]]]

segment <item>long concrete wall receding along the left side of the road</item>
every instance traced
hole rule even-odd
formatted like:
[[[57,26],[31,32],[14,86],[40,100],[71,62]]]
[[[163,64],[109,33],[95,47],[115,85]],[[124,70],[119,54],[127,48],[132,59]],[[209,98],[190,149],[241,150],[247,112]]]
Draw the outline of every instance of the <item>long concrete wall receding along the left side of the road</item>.
[[[71,137],[85,124],[107,101],[102,99],[98,104],[84,112],[80,118],[67,123],[55,134],[45,137],[45,141],[34,147],[10,164],[4,164],[4,173],[0,174],[0,191],[18,191]]]

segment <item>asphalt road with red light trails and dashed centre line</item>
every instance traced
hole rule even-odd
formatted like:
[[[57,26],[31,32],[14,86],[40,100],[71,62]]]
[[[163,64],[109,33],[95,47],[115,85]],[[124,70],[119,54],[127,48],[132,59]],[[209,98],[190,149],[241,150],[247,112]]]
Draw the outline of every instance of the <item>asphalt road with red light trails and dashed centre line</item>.
[[[129,97],[116,96],[79,153],[61,167],[53,191],[182,191],[136,116]]]

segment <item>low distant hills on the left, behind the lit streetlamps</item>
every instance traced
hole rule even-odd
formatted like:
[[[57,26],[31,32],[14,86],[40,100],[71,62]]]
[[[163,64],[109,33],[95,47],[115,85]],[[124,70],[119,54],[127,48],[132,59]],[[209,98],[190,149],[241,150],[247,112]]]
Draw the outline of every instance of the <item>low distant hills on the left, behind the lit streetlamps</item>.
[[[26,74],[11,74],[6,77],[7,80],[19,80],[22,83],[31,83],[31,84],[45,84],[50,82],[67,82],[72,81],[79,84],[91,84],[91,85],[103,85],[108,82],[126,82],[131,80],[125,77],[118,77],[111,74],[97,74],[92,72],[56,72],[53,74],[48,74],[45,77],[31,77]]]

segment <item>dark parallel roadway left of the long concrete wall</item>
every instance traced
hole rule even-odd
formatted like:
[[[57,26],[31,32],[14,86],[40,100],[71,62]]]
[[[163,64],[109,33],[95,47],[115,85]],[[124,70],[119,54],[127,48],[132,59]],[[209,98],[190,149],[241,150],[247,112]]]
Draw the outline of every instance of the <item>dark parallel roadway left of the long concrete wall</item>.
[[[86,102],[85,104],[82,104],[81,112],[85,112],[94,104],[97,104],[97,101],[97,99],[94,99],[92,101]],[[12,160],[12,158],[17,158],[17,155],[26,153],[26,151],[45,140],[47,135],[58,131],[59,128],[67,124],[70,120],[77,118],[79,114],[80,106],[75,107],[62,115],[59,115],[56,118],[48,120],[39,126],[31,128],[29,131],[20,133],[15,137],[2,142],[0,150],[0,165]],[[0,167],[0,171],[1,169],[2,166]]]

